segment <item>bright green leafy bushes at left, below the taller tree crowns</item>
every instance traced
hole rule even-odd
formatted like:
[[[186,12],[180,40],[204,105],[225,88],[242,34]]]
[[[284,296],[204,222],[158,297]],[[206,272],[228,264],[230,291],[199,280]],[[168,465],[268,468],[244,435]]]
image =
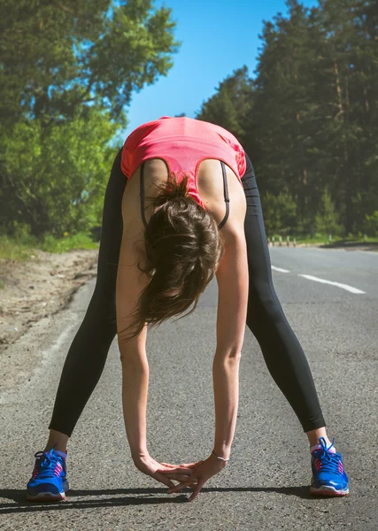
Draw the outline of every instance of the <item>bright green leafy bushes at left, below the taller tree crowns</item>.
[[[101,219],[114,150],[115,126],[92,108],[86,118],[51,124],[19,122],[4,135],[0,223],[9,234],[20,222],[31,233],[88,230]]]

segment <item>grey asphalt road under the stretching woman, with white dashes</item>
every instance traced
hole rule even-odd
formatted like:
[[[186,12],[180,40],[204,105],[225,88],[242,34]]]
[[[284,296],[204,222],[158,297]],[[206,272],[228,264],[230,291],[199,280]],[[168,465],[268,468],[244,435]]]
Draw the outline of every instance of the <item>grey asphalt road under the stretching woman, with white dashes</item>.
[[[0,397],[2,531],[378,529],[378,253],[274,248],[271,256],[274,268],[284,270],[274,269],[274,285],[312,367],[328,435],[336,436],[336,448],[343,453],[350,496],[308,495],[306,437],[247,328],[232,459],[197,500],[188,504],[187,495],[166,495],[164,486],[133,466],[113,343],[68,446],[71,491],[66,502],[27,503],[34,453],[43,449],[48,435],[60,371],[93,290],[91,281],[69,309],[20,340],[40,349],[42,362],[31,381]],[[191,461],[212,450],[216,302],[212,282],[196,312],[149,333],[148,439],[158,460]]]

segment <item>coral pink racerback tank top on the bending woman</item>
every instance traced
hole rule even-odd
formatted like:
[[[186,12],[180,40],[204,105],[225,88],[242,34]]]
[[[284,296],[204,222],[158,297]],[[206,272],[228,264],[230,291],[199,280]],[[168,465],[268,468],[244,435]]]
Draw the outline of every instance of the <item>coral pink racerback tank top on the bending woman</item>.
[[[197,189],[197,173],[206,158],[227,164],[241,181],[246,169],[242,145],[223,127],[186,117],[164,116],[137,127],[122,149],[121,170],[129,179],[149,158],[165,160],[170,173],[181,181],[189,175],[188,193],[204,207]],[[241,185],[243,183],[241,181]]]

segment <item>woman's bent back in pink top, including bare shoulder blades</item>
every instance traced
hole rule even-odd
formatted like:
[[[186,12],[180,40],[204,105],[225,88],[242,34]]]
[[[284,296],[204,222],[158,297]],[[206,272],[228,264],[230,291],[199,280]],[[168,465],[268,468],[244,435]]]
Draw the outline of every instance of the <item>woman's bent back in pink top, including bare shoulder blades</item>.
[[[147,221],[152,203],[147,197],[157,196],[156,185],[167,181],[169,171],[178,180],[182,173],[189,174],[189,195],[220,223],[226,210],[220,160],[226,163],[227,169],[229,224],[235,209],[240,208],[240,202],[245,204],[241,183],[245,158],[235,137],[222,127],[187,118],[158,119],[135,129],[125,142],[121,165],[127,176],[122,212],[130,237],[143,234],[140,209],[143,162]]]

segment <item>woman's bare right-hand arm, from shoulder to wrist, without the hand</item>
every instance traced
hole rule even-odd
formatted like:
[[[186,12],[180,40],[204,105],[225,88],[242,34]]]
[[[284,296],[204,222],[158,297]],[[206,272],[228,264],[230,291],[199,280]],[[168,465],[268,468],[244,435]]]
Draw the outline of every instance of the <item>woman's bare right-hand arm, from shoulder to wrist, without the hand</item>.
[[[231,228],[228,227],[228,231]],[[248,262],[244,233],[225,236],[218,281],[217,349],[212,365],[215,403],[214,452],[228,458],[234,438],[239,395],[239,362],[248,304]]]

